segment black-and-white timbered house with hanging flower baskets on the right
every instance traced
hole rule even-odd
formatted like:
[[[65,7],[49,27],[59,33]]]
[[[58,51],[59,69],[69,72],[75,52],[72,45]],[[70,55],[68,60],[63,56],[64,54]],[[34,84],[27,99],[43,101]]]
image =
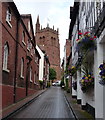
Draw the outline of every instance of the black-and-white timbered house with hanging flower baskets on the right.
[[[70,19],[72,97],[95,118],[105,119],[105,2],[74,2]]]

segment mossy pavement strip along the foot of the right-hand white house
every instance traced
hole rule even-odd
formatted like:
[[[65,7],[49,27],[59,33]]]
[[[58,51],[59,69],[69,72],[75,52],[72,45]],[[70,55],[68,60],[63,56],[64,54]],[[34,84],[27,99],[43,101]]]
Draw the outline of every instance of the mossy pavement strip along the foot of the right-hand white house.
[[[91,114],[81,109],[81,105],[77,103],[77,100],[75,98],[72,98],[71,93],[64,91],[64,95],[77,120],[95,120]]]

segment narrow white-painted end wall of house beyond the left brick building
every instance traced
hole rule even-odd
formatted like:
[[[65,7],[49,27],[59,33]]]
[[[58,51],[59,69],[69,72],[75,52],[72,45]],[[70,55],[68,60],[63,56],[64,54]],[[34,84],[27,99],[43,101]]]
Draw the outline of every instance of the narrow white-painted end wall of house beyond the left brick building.
[[[43,81],[43,72],[44,72],[44,53],[41,51],[41,49],[36,45],[36,49],[38,50],[41,59],[39,61],[39,80]]]

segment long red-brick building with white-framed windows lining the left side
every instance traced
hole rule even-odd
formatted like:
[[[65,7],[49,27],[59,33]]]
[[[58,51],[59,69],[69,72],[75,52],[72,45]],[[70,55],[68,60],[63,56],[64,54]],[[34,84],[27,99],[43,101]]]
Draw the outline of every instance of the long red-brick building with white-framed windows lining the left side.
[[[2,107],[39,89],[39,59],[31,15],[20,15],[14,2],[2,2]]]

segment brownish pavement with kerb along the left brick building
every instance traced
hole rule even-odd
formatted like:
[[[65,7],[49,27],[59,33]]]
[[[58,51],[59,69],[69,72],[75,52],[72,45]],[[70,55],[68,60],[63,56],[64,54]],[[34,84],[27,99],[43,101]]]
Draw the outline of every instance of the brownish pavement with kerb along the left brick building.
[[[30,96],[24,98],[23,100],[16,102],[16,103],[4,108],[0,112],[0,115],[2,116],[2,120],[7,120],[7,118],[9,116],[13,115],[14,113],[18,112],[22,108],[24,108],[27,105],[29,105],[30,103],[32,103],[38,96],[40,96],[46,90],[47,90],[47,88],[44,90],[36,91],[33,95],[30,95]]]

